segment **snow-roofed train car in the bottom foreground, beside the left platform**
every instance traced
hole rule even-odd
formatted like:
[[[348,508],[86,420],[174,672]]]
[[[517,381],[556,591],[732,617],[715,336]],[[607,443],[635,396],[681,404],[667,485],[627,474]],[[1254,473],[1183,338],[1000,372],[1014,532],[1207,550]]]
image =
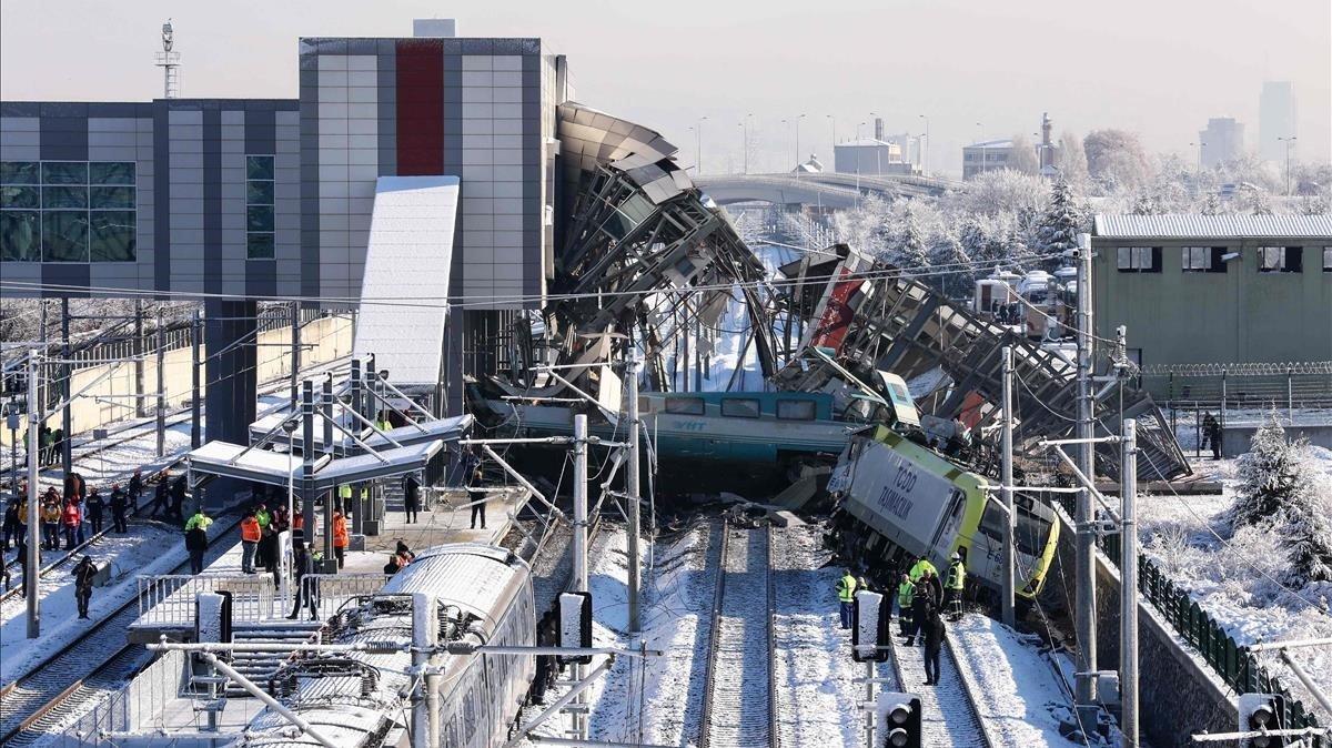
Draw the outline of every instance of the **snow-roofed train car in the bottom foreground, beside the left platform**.
[[[438,642],[535,644],[531,572],[510,551],[481,543],[424,551],[376,595],[350,600],[328,626],[326,642],[376,643],[376,652],[336,652],[285,664],[269,691],[340,747],[406,744],[412,719],[412,595],[438,606]],[[394,648],[388,654],[378,654]],[[503,745],[535,669],[533,655],[440,655],[440,740],[444,747]],[[250,748],[317,745],[293,736],[265,709],[237,743]]]

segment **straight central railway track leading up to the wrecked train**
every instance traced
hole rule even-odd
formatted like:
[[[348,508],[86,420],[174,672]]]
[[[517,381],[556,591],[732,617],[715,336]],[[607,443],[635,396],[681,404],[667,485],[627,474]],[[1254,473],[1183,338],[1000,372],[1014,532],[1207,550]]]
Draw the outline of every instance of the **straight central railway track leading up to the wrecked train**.
[[[725,526],[699,748],[777,745],[770,531]]]

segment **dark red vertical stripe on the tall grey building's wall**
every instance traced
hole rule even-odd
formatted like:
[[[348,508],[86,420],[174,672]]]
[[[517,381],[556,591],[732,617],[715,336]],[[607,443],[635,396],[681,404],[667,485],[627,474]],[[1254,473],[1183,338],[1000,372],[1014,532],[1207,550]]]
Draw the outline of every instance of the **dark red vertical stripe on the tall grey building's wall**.
[[[444,173],[444,43],[397,43],[398,174]]]

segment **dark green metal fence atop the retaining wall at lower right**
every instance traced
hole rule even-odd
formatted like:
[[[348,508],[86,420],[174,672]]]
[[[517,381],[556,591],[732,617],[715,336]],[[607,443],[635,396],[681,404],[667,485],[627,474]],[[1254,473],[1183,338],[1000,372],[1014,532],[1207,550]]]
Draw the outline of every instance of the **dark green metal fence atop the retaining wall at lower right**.
[[[1071,499],[1064,499],[1071,503]],[[1066,506],[1071,512],[1072,507]],[[1120,558],[1119,535],[1104,535],[1099,540],[1110,563]],[[1317,717],[1304,704],[1291,696],[1289,689],[1255,660],[1248,647],[1235,642],[1216,619],[1201,608],[1188,592],[1177,587],[1169,576],[1146,555],[1138,556],[1138,590],[1169,623],[1171,628],[1201,655],[1223,683],[1236,693],[1280,693],[1285,699],[1285,725],[1289,728],[1319,727]],[[1315,748],[1325,745],[1313,737]]]

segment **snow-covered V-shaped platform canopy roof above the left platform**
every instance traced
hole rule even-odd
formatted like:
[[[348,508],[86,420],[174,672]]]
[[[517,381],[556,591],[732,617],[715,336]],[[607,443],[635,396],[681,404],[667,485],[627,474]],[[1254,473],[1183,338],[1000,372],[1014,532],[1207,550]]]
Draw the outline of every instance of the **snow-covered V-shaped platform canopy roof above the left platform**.
[[[444,439],[434,438],[429,442],[377,450],[356,457],[329,458],[325,455],[314,461],[314,471],[309,482],[302,480],[304,463],[301,458],[230,442],[209,442],[190,451],[186,459],[194,474],[236,478],[268,486],[286,486],[288,482],[294,480],[301,490],[324,492],[332,491],[342,483],[364,483],[424,470],[430,458],[440,454],[442,449],[445,449]]]

